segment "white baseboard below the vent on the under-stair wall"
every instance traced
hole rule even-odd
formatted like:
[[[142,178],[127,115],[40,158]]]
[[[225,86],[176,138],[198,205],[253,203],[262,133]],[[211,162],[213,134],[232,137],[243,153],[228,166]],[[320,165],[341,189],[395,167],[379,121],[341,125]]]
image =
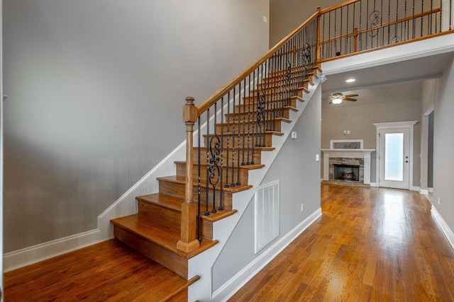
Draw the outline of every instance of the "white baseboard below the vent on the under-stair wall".
[[[250,262],[244,269],[238,274],[233,276],[230,280],[223,284],[218,290],[213,293],[212,301],[226,301],[228,298],[244,286],[252,277],[257,274],[260,269],[265,267],[271,260],[273,260],[279,252],[282,252],[292,241],[297,238],[306,228],[308,228],[316,219],[321,216],[321,208],[317,209],[313,214],[304,219],[298,226],[292,231],[289,231],[287,235],[280,238],[274,245],[268,248],[260,256],[255,258],[253,262]]]

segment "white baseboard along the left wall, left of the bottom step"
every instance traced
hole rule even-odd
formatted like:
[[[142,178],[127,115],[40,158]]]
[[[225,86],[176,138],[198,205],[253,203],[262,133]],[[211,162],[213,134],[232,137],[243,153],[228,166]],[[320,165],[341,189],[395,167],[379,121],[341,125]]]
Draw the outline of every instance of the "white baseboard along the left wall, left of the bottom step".
[[[95,229],[84,233],[79,233],[65,238],[52,240],[47,243],[33,245],[29,248],[7,252],[3,257],[4,272],[9,272],[19,267],[33,265],[58,255],[84,248],[85,246],[99,243],[105,239],[101,236],[101,231]]]

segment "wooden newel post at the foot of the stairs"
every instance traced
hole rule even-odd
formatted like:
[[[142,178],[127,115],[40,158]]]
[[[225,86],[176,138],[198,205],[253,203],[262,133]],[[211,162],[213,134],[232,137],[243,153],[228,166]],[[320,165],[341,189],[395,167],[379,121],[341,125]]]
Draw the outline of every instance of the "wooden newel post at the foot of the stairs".
[[[181,236],[177,243],[179,250],[190,252],[199,248],[197,239],[197,204],[192,194],[192,134],[198,117],[194,98],[188,96],[183,107],[183,122],[186,124],[186,187],[182,204]]]

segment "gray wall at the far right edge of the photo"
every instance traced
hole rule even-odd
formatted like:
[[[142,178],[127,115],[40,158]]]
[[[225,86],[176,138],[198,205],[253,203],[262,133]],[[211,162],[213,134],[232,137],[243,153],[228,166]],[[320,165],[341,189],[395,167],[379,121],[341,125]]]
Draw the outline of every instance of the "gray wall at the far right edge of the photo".
[[[433,123],[433,206],[454,230],[454,60],[439,81]],[[440,199],[440,204],[438,204]]]

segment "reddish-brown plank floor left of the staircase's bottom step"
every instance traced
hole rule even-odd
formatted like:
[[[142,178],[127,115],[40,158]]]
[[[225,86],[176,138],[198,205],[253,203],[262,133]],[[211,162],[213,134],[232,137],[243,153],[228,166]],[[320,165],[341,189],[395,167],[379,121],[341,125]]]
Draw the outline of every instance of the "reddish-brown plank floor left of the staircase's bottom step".
[[[187,301],[193,281],[111,239],[6,272],[4,301]]]

